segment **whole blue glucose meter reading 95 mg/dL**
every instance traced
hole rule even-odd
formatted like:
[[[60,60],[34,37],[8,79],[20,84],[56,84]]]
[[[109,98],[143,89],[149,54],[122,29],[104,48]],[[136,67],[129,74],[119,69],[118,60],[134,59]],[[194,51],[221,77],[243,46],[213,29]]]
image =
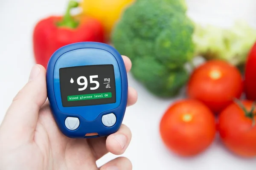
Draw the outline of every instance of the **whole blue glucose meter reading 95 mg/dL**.
[[[127,105],[124,61],[115,48],[78,42],[52,54],[47,65],[47,96],[61,132],[70,138],[115,133]]]

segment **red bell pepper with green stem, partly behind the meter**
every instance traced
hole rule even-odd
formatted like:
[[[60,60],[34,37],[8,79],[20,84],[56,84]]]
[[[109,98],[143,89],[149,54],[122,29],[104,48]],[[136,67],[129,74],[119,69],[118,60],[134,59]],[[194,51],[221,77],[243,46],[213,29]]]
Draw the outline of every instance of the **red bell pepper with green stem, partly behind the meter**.
[[[75,42],[105,42],[102,24],[89,16],[71,16],[70,10],[79,6],[70,1],[64,16],[50,16],[39,21],[33,33],[35,62],[47,68],[51,55],[64,45]]]

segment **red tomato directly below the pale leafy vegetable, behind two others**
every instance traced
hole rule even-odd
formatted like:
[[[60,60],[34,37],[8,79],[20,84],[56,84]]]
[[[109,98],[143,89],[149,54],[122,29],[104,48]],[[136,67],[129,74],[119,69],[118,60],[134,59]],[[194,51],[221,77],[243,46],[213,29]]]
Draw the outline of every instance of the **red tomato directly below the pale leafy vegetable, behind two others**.
[[[239,70],[227,62],[211,60],[192,73],[187,95],[204,102],[214,113],[222,111],[243,92],[243,79]]]

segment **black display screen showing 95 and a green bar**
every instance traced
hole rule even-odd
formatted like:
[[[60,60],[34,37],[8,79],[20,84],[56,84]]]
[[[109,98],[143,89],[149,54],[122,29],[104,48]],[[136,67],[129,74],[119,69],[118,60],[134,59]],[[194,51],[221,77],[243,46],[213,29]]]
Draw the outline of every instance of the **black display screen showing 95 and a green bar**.
[[[59,69],[63,107],[116,102],[113,65],[86,65]]]

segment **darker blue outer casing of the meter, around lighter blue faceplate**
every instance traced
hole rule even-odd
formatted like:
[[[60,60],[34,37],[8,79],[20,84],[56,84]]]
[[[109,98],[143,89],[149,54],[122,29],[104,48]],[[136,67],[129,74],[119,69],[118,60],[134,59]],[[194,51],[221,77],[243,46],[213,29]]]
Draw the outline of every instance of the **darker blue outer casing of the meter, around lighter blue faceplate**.
[[[119,74],[121,79],[121,94],[120,94],[120,103],[115,108],[111,108],[105,111],[102,111],[96,119],[93,120],[86,120],[83,116],[79,113],[65,113],[58,108],[58,104],[55,98],[55,89],[54,89],[54,71],[55,71],[55,64],[57,60],[67,52],[78,50],[82,48],[91,48],[91,49],[100,49],[109,52],[113,55],[116,59],[116,62],[119,66]],[[122,124],[122,120],[125,114],[126,105],[127,105],[127,97],[128,97],[128,80],[127,80],[127,73],[125,69],[125,64],[122,59],[122,56],[116,51],[115,48],[111,47],[110,45],[100,43],[100,42],[77,42],[70,45],[65,45],[55,51],[52,54],[52,57],[49,59],[47,65],[47,96],[49,100],[49,106],[52,110],[52,115],[55,119],[55,122],[58,125],[58,128],[61,132],[69,137],[69,138],[93,138],[93,137],[100,137],[100,136],[108,136],[112,133],[115,133]],[[118,94],[116,93],[116,96]],[[116,101],[117,102],[117,101]],[[106,104],[109,105],[109,104]],[[82,106],[86,107],[86,106]],[[103,107],[98,105],[98,107]],[[70,107],[72,108],[72,107]],[[75,108],[81,108],[75,107]],[[113,113],[116,116],[116,123],[112,127],[107,127],[102,123],[102,116],[105,114]],[[65,126],[65,119],[67,117],[77,117],[79,119],[79,127],[76,130],[69,130]],[[96,136],[85,136],[87,133],[98,133]]]

